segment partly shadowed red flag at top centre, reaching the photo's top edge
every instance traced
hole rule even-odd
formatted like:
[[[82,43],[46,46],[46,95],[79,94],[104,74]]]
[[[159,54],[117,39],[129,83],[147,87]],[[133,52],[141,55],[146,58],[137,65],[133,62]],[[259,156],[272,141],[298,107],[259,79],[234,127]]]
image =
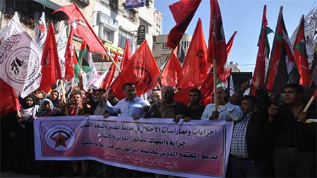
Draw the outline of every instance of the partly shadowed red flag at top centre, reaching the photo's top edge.
[[[170,11],[173,13],[176,25],[168,34],[167,46],[175,49],[180,44],[180,39],[182,39],[190,21],[192,21],[200,3],[201,0],[180,0],[170,4]]]

